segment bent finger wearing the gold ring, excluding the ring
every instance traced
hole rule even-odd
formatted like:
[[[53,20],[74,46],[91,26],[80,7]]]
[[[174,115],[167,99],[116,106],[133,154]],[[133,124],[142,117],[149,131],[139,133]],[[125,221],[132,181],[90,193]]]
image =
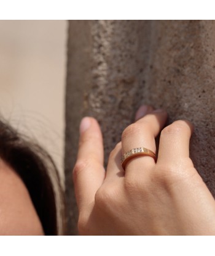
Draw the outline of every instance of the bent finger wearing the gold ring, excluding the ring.
[[[138,147],[146,147],[156,151],[155,137],[165,125],[167,114],[165,110],[155,110],[151,114],[139,119],[128,126],[122,134],[122,153]],[[139,156],[128,161],[125,176],[128,172],[143,171],[155,165],[155,161],[149,156]]]

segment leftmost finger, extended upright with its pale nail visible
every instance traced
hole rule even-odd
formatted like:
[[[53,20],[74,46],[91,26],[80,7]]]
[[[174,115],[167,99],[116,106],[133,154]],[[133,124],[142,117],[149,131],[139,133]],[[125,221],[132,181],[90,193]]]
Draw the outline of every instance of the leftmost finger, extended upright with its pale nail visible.
[[[103,138],[98,122],[85,117],[80,123],[79,151],[73,170],[77,205],[87,207],[95,199],[98,188],[103,183]]]

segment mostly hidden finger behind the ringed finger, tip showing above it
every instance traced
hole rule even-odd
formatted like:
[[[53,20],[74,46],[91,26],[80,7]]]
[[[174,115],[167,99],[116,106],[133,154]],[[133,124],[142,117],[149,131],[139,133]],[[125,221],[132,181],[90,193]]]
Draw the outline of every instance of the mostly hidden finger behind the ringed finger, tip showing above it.
[[[151,113],[153,110],[154,109],[151,107],[151,105],[141,105],[141,107],[139,107],[136,112],[135,120],[137,121],[139,118],[144,117],[145,115]],[[105,180],[112,181],[115,178],[124,177],[125,171],[123,170],[120,163],[121,158],[122,142],[119,142],[109,156]]]

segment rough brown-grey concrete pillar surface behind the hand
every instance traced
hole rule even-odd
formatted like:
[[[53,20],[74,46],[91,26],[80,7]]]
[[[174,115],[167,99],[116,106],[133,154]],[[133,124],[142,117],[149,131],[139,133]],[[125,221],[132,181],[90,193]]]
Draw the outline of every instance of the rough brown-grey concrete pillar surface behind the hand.
[[[68,234],[76,234],[72,187],[79,122],[96,117],[106,162],[141,104],[163,107],[168,123],[195,125],[191,158],[215,196],[215,22],[90,20],[69,22],[66,88]]]

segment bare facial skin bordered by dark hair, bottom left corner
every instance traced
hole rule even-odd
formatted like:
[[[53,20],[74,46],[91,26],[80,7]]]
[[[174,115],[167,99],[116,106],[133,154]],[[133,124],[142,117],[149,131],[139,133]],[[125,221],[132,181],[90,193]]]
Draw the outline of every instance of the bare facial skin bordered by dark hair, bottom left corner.
[[[0,159],[0,235],[42,235],[41,222],[22,179]]]

